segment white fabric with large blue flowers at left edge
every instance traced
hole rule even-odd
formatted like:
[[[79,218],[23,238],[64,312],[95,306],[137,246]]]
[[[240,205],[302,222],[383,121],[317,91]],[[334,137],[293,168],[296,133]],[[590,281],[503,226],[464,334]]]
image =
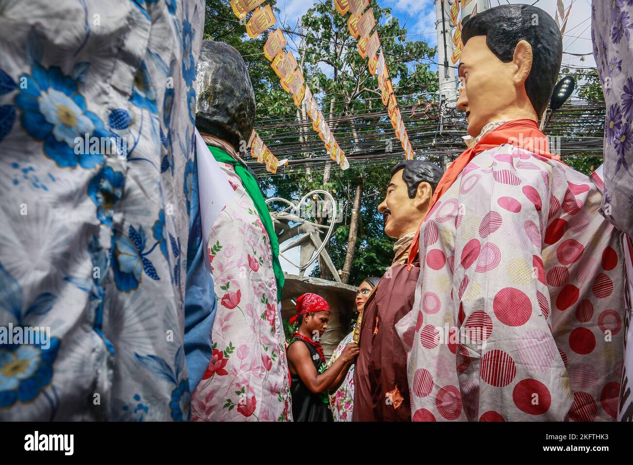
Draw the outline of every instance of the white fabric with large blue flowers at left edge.
[[[189,419],[203,25],[204,0],[0,1],[0,327],[50,331],[0,338],[0,420]]]

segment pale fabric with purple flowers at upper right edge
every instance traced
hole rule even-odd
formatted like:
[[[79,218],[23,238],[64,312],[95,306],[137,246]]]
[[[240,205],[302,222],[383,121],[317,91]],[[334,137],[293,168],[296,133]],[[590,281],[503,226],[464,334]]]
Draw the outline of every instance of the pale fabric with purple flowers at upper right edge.
[[[606,103],[603,212],[633,235],[633,0],[593,0],[591,38]]]

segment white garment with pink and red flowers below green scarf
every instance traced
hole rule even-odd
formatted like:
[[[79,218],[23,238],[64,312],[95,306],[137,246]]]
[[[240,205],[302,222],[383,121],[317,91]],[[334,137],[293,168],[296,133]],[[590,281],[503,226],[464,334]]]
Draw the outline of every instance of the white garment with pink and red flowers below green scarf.
[[[191,400],[191,419],[292,421],[268,235],[232,166],[218,164],[235,196],[208,242],[218,309],[213,357]]]

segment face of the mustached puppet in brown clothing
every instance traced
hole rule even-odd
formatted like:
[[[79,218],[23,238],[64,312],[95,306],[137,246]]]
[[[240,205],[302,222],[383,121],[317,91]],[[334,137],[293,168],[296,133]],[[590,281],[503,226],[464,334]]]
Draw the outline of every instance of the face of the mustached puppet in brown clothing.
[[[429,183],[420,182],[415,197],[411,199],[403,173],[404,170],[398,170],[391,177],[387,196],[378,206],[378,211],[384,216],[385,234],[396,239],[418,228],[429,205],[431,192]]]

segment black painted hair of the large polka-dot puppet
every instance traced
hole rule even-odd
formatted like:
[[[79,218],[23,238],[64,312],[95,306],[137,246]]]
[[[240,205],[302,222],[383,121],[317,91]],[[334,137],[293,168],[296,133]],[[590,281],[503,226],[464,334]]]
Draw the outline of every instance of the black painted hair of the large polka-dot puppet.
[[[493,6],[464,23],[464,45],[475,35],[485,35],[488,48],[503,63],[512,61],[521,40],[532,46],[532,69],[525,80],[525,92],[541,116],[548,107],[563,58],[563,40],[554,19],[536,6]]]

